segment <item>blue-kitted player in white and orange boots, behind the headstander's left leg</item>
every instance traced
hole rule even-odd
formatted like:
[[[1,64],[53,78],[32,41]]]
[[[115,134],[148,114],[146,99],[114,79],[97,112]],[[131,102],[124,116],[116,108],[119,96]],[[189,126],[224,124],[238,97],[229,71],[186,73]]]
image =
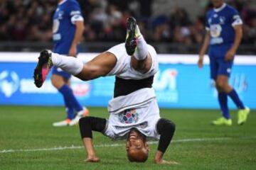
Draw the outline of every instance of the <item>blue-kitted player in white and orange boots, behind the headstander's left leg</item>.
[[[58,0],[58,8],[53,16],[53,52],[76,57],[78,45],[84,30],[80,6],[75,0]],[[53,123],[53,126],[75,125],[79,116],[87,115],[87,108],[82,108],[70,88],[71,74],[58,67],[53,67],[51,82],[63,95],[67,118]],[[76,114],[78,117],[76,118]]]

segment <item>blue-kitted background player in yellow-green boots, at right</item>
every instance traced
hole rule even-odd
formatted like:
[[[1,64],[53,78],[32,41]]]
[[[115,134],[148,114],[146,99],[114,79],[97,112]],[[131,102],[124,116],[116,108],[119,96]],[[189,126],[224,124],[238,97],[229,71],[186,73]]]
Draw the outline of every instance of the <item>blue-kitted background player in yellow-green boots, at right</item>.
[[[213,125],[232,125],[228,109],[228,96],[238,107],[238,125],[247,120],[250,109],[246,108],[237,92],[228,84],[235,53],[242,39],[242,20],[232,6],[224,0],[211,0],[213,9],[206,16],[206,36],[201,48],[198,67],[203,67],[203,56],[210,44],[210,77],[218,91],[218,101],[223,117],[214,120]]]

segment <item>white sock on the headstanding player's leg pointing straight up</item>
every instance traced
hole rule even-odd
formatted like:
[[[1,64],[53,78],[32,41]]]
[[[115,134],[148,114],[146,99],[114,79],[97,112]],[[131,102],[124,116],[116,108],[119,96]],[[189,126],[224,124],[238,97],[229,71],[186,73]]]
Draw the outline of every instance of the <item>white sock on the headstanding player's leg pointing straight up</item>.
[[[149,50],[147,48],[146,41],[144,40],[143,35],[139,31],[139,26],[136,28],[136,32],[138,35],[137,39],[137,47],[134,52],[134,57],[137,60],[144,60],[147,55],[149,55]]]

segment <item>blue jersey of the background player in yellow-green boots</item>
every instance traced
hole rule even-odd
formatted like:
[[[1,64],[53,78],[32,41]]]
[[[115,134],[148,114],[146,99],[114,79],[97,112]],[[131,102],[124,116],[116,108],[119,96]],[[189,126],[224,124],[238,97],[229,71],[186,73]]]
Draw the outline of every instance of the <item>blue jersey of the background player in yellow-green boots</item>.
[[[206,16],[206,30],[210,31],[210,45],[232,44],[235,40],[233,26],[242,24],[242,20],[232,6],[223,4],[213,8]]]

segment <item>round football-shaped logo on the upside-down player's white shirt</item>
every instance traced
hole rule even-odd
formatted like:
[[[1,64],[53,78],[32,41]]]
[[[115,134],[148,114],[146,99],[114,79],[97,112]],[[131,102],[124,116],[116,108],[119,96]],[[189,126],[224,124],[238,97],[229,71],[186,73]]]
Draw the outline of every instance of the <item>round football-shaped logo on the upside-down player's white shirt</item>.
[[[139,120],[139,114],[136,112],[135,108],[127,109],[118,115],[121,123],[137,123]]]

